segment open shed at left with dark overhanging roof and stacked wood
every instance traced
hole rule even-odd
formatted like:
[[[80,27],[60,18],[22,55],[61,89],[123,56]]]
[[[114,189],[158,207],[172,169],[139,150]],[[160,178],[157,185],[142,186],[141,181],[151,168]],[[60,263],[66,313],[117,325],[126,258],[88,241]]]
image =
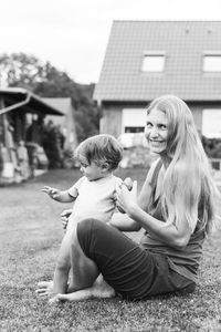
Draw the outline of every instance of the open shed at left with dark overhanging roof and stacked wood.
[[[0,89],[0,185],[34,176],[40,164],[48,166],[42,147],[48,114],[63,116],[25,89]]]

